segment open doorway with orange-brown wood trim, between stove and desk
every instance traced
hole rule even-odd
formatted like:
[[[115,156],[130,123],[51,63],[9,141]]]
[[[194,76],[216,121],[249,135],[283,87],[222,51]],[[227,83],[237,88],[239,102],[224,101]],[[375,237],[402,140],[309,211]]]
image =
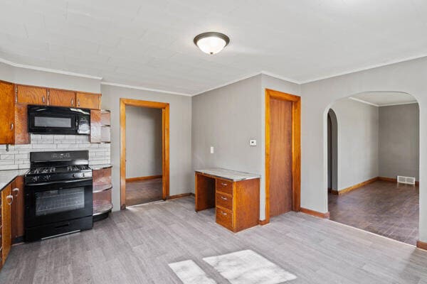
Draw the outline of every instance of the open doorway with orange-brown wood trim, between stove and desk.
[[[120,209],[169,197],[169,104],[120,99]]]

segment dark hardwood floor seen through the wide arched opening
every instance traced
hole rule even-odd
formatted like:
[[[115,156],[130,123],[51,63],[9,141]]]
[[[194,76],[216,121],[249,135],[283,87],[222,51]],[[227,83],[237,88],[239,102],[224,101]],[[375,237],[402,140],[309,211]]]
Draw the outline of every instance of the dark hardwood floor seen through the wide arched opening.
[[[377,181],[329,194],[330,219],[407,244],[418,240],[418,186]]]

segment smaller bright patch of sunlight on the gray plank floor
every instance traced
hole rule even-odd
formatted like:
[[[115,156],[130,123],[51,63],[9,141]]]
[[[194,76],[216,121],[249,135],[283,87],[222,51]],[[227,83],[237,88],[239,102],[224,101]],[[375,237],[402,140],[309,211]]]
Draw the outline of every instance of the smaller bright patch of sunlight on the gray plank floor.
[[[169,267],[184,284],[216,284],[194,261],[169,263]]]

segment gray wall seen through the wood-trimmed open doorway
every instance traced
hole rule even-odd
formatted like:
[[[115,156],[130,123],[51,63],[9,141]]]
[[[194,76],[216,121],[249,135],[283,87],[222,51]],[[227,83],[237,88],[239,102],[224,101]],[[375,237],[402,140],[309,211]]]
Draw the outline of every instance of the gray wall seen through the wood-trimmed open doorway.
[[[162,175],[162,110],[126,107],[126,178]]]

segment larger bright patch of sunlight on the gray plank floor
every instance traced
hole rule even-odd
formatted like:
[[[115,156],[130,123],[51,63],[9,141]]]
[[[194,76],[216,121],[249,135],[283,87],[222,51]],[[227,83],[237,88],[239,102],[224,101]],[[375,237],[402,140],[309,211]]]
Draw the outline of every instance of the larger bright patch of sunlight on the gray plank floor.
[[[203,258],[231,284],[278,284],[297,276],[251,250]]]

